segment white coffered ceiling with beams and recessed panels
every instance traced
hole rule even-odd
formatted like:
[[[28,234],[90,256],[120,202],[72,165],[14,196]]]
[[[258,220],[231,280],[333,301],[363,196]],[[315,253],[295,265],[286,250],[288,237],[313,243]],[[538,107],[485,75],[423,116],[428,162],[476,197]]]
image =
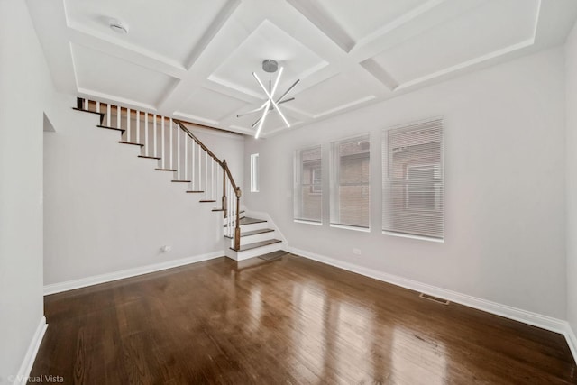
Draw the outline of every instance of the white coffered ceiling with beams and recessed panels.
[[[254,133],[261,61],[292,127],[563,43],[575,0],[28,0],[62,92]],[[110,30],[110,19],[129,33]],[[274,81],[274,75],[273,75]],[[498,92],[498,90],[496,90]],[[277,93],[279,95],[279,92]],[[262,131],[286,130],[276,113]]]

